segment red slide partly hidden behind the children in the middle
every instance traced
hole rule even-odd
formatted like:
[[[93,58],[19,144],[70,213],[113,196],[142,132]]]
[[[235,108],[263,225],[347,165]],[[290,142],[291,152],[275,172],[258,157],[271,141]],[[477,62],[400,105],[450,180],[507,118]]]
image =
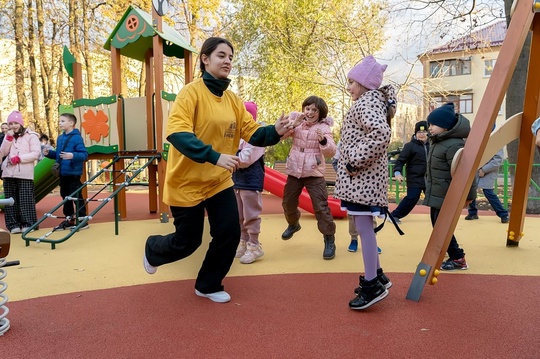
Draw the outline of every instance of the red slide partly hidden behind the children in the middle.
[[[287,182],[287,176],[283,173],[280,173],[272,168],[265,167],[265,176],[264,176],[264,189],[279,198],[283,198],[283,189],[285,188],[285,183]],[[347,212],[342,211],[340,207],[340,201],[328,197],[328,206],[332,212],[334,218],[345,218],[347,217]],[[299,198],[299,207],[310,213],[314,213],[313,205],[311,204],[311,198],[307,193],[306,189],[302,190]]]

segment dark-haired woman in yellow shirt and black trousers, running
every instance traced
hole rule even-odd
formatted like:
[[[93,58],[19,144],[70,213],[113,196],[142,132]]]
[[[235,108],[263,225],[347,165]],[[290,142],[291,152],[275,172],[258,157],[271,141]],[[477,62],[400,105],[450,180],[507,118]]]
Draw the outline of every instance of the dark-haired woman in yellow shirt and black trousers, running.
[[[223,279],[240,242],[240,224],[231,174],[239,166],[240,139],[254,146],[279,142],[288,131],[283,116],[261,127],[244,102],[227,87],[234,49],[223,38],[207,39],[200,51],[201,78],[182,88],[171,109],[167,140],[171,143],[163,199],[171,207],[175,232],[148,237],[144,268],[191,255],[202,243],[205,211],[212,240],[195,281],[195,294],[214,302],[231,300]]]

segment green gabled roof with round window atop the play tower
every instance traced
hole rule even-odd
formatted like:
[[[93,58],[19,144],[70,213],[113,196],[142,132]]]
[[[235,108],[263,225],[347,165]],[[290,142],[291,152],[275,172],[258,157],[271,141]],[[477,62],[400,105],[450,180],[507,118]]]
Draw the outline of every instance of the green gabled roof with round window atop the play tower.
[[[157,31],[153,26],[152,15],[130,5],[103,47],[111,50],[111,46],[120,50],[122,56],[144,61],[145,55],[153,47],[153,37],[163,39],[163,55],[184,58],[184,50],[196,53],[189,42],[175,29],[162,24],[163,31]]]

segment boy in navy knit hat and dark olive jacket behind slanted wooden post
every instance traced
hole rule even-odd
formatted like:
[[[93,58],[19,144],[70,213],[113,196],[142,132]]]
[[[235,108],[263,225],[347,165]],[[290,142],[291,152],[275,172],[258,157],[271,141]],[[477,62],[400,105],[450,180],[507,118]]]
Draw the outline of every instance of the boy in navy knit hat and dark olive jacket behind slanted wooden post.
[[[431,224],[435,226],[444,197],[450,187],[450,168],[456,152],[465,145],[471,126],[469,120],[454,111],[449,102],[433,110],[427,117],[429,124],[430,148],[427,157],[426,196],[424,204],[431,207]],[[472,189],[474,194],[476,189]],[[467,269],[465,252],[452,235],[448,245],[448,260],[441,265],[442,270]]]

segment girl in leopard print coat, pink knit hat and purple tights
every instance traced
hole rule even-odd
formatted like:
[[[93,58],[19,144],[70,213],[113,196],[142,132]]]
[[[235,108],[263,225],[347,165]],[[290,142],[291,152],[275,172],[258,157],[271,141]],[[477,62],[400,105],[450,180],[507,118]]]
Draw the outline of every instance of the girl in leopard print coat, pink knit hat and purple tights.
[[[360,235],[365,274],[360,276],[351,309],[365,309],[384,299],[392,282],[383,273],[377,252],[373,216],[388,207],[388,159],[390,120],[395,111],[395,91],[380,87],[386,65],[372,56],[349,71],[347,91],[354,101],[341,127],[340,157],[334,197]]]

